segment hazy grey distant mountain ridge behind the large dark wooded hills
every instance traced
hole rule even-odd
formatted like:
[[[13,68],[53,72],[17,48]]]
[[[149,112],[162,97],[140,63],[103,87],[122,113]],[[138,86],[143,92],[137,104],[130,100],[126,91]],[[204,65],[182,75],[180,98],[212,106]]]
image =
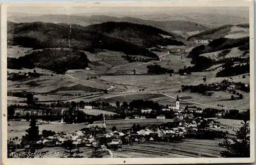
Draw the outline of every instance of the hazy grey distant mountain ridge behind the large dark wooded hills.
[[[82,26],[87,26],[91,24],[115,21],[115,22],[131,22],[137,24],[151,25],[156,28],[162,29],[171,33],[172,31],[204,31],[208,28],[198,22],[188,21],[188,20],[146,20],[139,19],[135,17],[112,17],[106,15],[92,15],[88,16],[79,16],[79,15],[40,15],[40,16],[26,16],[26,17],[9,17],[10,21],[14,22],[52,22],[52,23],[72,23],[79,24]]]

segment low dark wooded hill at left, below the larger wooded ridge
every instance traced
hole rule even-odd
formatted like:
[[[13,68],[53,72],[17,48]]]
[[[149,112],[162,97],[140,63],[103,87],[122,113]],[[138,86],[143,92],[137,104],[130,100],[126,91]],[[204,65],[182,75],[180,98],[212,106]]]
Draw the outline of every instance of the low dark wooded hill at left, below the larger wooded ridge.
[[[79,50],[70,49],[44,49],[34,51],[24,57],[8,58],[7,68],[33,69],[40,67],[63,74],[69,69],[84,69],[88,67],[87,55]]]

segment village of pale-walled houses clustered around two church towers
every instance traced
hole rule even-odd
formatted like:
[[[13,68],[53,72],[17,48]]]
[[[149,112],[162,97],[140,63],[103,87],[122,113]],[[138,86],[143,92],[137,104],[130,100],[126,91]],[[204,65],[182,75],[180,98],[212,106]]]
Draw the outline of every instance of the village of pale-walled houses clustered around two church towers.
[[[93,108],[91,105],[85,105],[83,107],[83,109],[91,108]],[[66,148],[67,151],[70,150],[70,152],[79,151],[81,156],[83,152],[79,148],[86,147],[92,151],[90,154],[83,155],[94,157],[97,150],[97,156],[109,155],[110,157],[114,157],[112,151],[119,151],[121,148],[122,150],[128,148],[130,150],[137,150],[136,145],[138,144],[147,145],[147,143],[152,142],[182,143],[185,139],[208,139],[214,141],[222,139],[226,135],[232,137],[234,131],[238,130],[236,126],[225,126],[221,124],[218,119],[221,119],[223,114],[218,111],[212,118],[202,118],[200,116],[203,113],[202,109],[180,106],[178,95],[175,106],[168,106],[167,108],[161,109],[162,115],[156,116],[156,123],[146,121],[148,115],[154,112],[152,108],[143,108],[140,111],[139,114],[141,115],[126,116],[124,118],[124,121],[127,121],[126,125],[118,126],[114,123],[108,123],[111,120],[105,120],[105,115],[101,114],[102,124],[100,124],[100,121],[95,122],[95,124],[84,124],[82,129],[74,130],[73,132],[42,130],[42,134],[37,135],[38,138],[36,141],[29,141],[28,134],[26,136],[23,135],[22,138],[10,138],[8,140],[8,149],[9,151],[23,153],[27,149],[31,150],[31,148],[41,151],[45,150],[44,148],[54,150],[54,148],[61,147]],[[174,113],[172,119],[166,119],[167,116],[163,115],[168,112]],[[66,126],[63,118],[61,121],[32,120],[30,119],[29,122],[34,123],[34,127],[36,125],[59,124],[62,124],[62,127]],[[145,122],[142,122],[143,120]],[[22,121],[25,122],[27,120],[22,119]],[[127,125],[127,123],[129,124]],[[135,148],[133,148],[134,145]],[[218,155],[215,156],[218,157]]]

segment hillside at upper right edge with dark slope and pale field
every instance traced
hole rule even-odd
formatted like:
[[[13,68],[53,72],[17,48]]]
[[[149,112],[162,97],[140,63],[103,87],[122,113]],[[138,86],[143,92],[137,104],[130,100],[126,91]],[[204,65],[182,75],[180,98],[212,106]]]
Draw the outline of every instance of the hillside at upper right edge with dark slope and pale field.
[[[224,38],[242,38],[249,36],[249,24],[223,25],[219,28],[203,31],[196,35],[189,36],[187,40],[212,40],[220,37]]]

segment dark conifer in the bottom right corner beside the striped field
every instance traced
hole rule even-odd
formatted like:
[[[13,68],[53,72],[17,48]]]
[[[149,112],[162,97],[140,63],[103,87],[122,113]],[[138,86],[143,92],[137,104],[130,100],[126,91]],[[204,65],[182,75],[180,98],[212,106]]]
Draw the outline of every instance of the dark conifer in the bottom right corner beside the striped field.
[[[219,144],[225,148],[221,151],[222,157],[250,157],[250,128],[246,120],[242,122],[243,126],[236,132],[236,138],[231,140],[225,137],[224,141]]]

